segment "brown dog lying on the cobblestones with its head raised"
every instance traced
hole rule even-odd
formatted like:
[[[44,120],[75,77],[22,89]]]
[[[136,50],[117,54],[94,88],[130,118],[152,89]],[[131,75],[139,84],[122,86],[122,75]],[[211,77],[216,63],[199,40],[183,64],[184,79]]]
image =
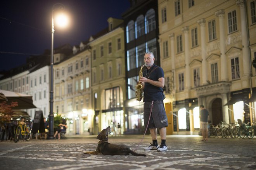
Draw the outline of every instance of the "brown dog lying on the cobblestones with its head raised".
[[[110,133],[110,126],[106,129],[103,129],[100,134],[97,136],[98,146],[95,151],[84,151],[83,153],[92,154],[92,155],[135,155],[135,156],[147,156],[145,154],[136,153],[132,151],[129,146],[126,145],[115,145],[108,143]]]

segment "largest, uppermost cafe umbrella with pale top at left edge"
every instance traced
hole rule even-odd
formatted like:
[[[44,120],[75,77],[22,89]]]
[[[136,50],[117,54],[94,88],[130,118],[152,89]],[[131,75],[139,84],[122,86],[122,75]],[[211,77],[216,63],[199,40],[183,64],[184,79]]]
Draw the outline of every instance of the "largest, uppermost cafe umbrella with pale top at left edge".
[[[33,105],[33,100],[31,95],[26,95],[17,92],[11,92],[7,90],[0,90],[6,97],[7,103],[18,102],[18,106],[13,107],[13,109],[32,109],[36,108]],[[1,101],[2,102],[2,101]]]

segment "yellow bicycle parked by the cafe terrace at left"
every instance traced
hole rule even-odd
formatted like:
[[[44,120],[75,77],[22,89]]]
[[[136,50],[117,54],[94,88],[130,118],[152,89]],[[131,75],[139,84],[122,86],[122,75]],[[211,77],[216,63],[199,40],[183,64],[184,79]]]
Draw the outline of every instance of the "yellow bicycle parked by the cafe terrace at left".
[[[14,129],[14,142],[16,143],[19,139],[29,141],[31,138],[31,129],[26,125],[24,118],[18,121],[17,127]]]

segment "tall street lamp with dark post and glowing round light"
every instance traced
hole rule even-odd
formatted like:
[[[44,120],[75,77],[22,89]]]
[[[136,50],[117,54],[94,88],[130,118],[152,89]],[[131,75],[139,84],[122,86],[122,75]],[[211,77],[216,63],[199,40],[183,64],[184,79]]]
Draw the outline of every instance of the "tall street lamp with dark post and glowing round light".
[[[49,134],[47,139],[54,139],[54,114],[53,114],[53,65],[54,65],[54,12],[55,10],[64,10],[65,6],[62,3],[55,3],[52,6],[52,42],[51,42],[51,63],[50,63],[50,73],[51,73],[51,84],[50,84],[50,114],[49,114]],[[67,19],[63,14],[59,15],[57,18],[57,24],[64,27],[66,26]]]

